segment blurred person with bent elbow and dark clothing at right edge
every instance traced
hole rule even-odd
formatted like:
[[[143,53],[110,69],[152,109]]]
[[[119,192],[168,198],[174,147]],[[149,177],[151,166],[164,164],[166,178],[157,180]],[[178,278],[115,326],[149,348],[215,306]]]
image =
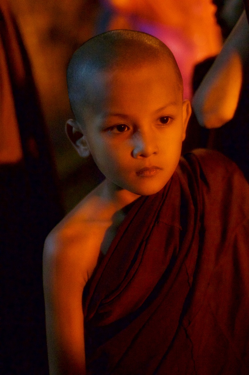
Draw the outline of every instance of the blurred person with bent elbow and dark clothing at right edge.
[[[231,1],[229,3],[231,6]],[[224,153],[237,163],[249,181],[248,40],[249,26],[244,12],[222,51],[210,64],[211,68],[207,66],[205,70],[202,64],[204,71],[201,73],[201,64],[196,67],[195,76],[199,75],[199,82],[195,84],[193,110],[199,124],[210,130],[197,130],[192,117],[187,139],[191,139],[195,127],[196,133],[202,134],[201,143],[195,139],[197,145]],[[201,75],[202,78],[205,76],[202,82]]]

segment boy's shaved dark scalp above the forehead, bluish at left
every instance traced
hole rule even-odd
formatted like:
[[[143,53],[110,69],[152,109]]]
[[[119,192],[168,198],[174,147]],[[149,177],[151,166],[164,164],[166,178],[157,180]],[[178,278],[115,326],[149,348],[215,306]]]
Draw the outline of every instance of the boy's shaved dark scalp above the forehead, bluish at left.
[[[145,63],[171,63],[181,93],[183,81],[170,49],[150,34],[112,30],[87,40],[74,52],[67,69],[68,95],[75,118],[81,123],[82,106],[96,100],[94,78],[99,71],[137,68]]]

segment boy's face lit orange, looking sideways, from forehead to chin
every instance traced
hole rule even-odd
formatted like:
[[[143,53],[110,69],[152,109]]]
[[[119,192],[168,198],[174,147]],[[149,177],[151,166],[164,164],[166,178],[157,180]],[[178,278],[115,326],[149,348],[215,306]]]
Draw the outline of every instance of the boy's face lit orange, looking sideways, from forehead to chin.
[[[178,164],[191,112],[173,68],[101,72],[96,84],[98,109],[87,108],[83,119],[93,159],[114,185],[138,195],[158,192]]]

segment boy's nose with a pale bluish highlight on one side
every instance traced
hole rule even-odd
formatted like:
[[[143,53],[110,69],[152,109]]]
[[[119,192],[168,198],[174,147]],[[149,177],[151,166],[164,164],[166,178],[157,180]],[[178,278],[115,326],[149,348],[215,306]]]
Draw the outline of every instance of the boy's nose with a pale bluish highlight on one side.
[[[150,132],[137,131],[133,134],[132,156],[135,159],[149,157],[157,153],[156,140]]]

